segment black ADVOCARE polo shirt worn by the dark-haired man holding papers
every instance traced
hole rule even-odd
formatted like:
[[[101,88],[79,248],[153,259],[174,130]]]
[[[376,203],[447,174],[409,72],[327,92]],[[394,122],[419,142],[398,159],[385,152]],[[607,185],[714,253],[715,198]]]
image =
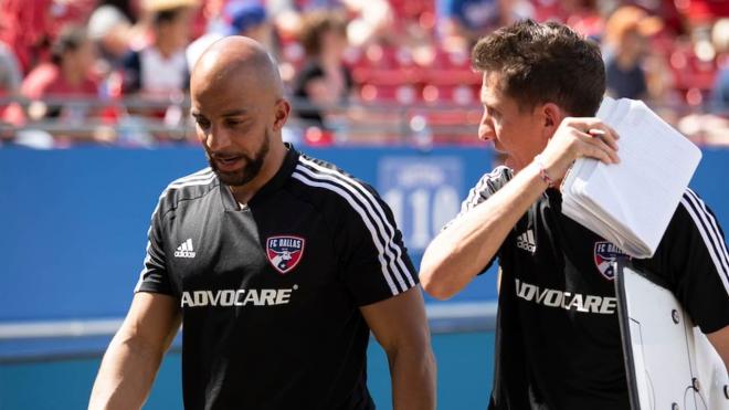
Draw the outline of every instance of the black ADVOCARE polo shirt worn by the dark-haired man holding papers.
[[[506,167],[484,176],[462,213],[510,179]],[[623,252],[562,214],[561,204],[560,192],[547,190],[498,251],[490,409],[630,409],[610,264]],[[704,333],[729,325],[723,233],[693,191],[685,192],[654,256],[633,263],[665,278]]]

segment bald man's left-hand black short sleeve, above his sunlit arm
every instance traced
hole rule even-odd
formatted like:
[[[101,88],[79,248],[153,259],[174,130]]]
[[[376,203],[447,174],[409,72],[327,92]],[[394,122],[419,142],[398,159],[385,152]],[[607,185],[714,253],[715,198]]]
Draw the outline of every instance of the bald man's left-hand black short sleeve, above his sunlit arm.
[[[162,200],[160,199],[160,202]],[[157,206],[152,213],[149,231],[147,232],[147,251],[144,266],[135,292],[151,292],[172,295],[172,286],[167,274],[167,256],[163,246],[163,215],[161,206]]]

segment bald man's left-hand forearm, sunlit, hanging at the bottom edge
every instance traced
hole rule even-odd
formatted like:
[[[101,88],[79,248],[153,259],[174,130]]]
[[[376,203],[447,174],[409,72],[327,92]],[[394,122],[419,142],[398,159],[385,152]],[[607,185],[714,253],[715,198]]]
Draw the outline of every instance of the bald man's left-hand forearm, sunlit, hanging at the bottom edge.
[[[139,409],[144,404],[162,353],[138,340],[114,337],[92,390],[89,409]]]

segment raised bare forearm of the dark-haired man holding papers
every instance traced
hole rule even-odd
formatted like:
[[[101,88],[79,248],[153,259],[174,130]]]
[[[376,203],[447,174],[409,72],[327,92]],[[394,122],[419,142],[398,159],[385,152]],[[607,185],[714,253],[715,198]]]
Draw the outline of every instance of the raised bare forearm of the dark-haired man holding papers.
[[[535,165],[526,167],[504,188],[453,222],[427,246],[420,278],[425,291],[448,298],[486,266],[509,231],[547,185]]]

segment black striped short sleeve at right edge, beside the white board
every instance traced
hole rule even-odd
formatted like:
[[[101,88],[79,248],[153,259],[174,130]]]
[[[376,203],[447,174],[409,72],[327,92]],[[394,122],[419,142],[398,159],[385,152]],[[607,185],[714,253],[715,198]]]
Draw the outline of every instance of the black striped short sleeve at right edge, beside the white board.
[[[649,260],[635,262],[668,282],[704,333],[729,325],[729,253],[711,210],[687,189]]]

